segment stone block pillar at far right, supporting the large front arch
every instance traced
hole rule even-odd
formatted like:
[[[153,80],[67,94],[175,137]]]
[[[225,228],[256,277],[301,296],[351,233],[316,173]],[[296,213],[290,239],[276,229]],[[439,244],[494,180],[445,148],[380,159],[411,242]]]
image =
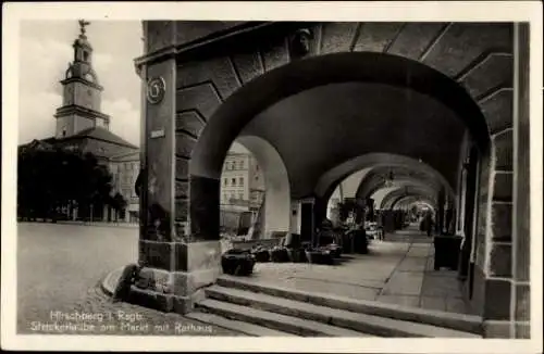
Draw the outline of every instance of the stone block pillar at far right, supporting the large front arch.
[[[483,306],[486,338],[529,337],[528,25],[512,24],[512,114],[492,134]],[[526,243],[526,244],[524,244]],[[520,249],[524,249],[521,251]]]

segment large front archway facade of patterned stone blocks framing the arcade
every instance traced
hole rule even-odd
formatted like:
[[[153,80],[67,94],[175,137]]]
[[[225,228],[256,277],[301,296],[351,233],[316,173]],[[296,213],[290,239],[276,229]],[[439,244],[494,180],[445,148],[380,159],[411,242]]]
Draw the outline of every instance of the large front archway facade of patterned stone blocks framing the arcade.
[[[520,50],[517,48],[516,52],[512,52],[512,31],[514,28],[519,27],[518,24],[269,23],[251,25],[242,23],[240,25],[238,23],[238,25],[243,26],[239,30],[233,29],[237,25],[232,25],[232,27],[226,25],[231,28],[228,29],[224,28],[224,23],[219,25],[205,23],[198,25],[198,34],[193,30],[191,35],[187,35],[189,30],[186,29],[193,28],[194,23],[166,21],[145,23],[147,53],[145,58],[137,60],[138,71],[145,81],[163,76],[166,94],[159,104],[147,102],[144,110],[147,126],[143,132],[143,167],[152,167],[149,168],[149,176],[145,177],[145,184],[150,189],[154,188],[158,193],[156,195],[151,193],[149,198],[144,197],[143,207],[149,208],[154,204],[160,204],[166,213],[175,214],[169,219],[169,224],[175,217],[175,223],[172,225],[176,225],[176,232],[178,222],[182,224],[190,222],[190,231],[188,231],[190,242],[206,240],[217,242],[218,235],[213,226],[214,219],[219,219],[213,212],[213,205],[217,202],[213,195],[219,194],[217,172],[221,168],[223,153],[244,129],[245,122],[259,114],[263,108],[289,94],[293,96],[326,83],[353,79],[372,81],[373,75],[380,73],[380,75],[385,75],[383,81],[387,85],[400,84],[399,87],[410,87],[412,91],[419,89],[418,92],[426,92],[430,96],[442,94],[441,102],[446,105],[448,105],[447,102],[453,103],[448,106],[457,106],[456,113],[462,117],[463,122],[473,123],[470,127],[472,139],[477,140],[480,149],[483,150],[481,169],[479,169],[480,198],[478,200],[482,211],[478,214],[477,229],[480,235],[478,242],[482,243],[482,246],[477,251],[475,269],[480,271],[477,273],[478,277],[480,279],[483,277],[484,280],[487,276],[511,277],[508,273],[511,267],[504,267],[498,270],[499,273],[495,273],[494,265],[499,263],[496,262],[496,254],[502,255],[504,252],[494,252],[494,240],[486,236],[493,233],[493,215],[500,213],[505,207],[511,208],[512,205],[512,112],[516,111],[512,110],[512,96],[514,92],[518,92],[518,88],[512,88],[512,62],[515,56],[518,58],[518,50]],[[215,29],[210,30],[206,28],[207,26]],[[310,51],[304,58],[295,58],[289,51],[287,39],[296,27],[310,27],[314,34],[319,34],[312,37],[314,39],[310,43]],[[189,38],[191,36],[195,38]],[[248,38],[252,40],[246,41],[245,39]],[[239,47],[236,43],[240,43]],[[384,55],[381,53],[385,56],[381,56]],[[368,69],[366,73],[351,71],[350,65],[351,68],[355,65],[355,63],[348,63],[350,61],[348,56],[351,54],[367,59],[373,56],[376,60],[356,60]],[[334,67],[329,71],[332,66],[323,65],[327,64],[329,55],[343,56],[342,61],[345,61],[343,65],[348,69],[344,74],[336,73]],[[385,64],[393,61],[403,64],[396,69]],[[417,65],[412,65],[412,61],[422,63],[423,66],[426,65],[425,69],[419,71]],[[319,65],[316,63],[323,66],[318,68]],[[382,66],[382,64],[385,65]],[[289,71],[286,72],[287,66]],[[290,71],[294,67],[298,69]],[[323,71],[322,67],[327,69]],[[308,77],[312,69],[316,71],[316,77]],[[405,73],[399,73],[403,69]],[[282,71],[285,76],[281,78],[273,74],[277,71]],[[421,76],[417,79],[413,75],[405,75],[406,73],[421,74]],[[443,79],[436,80],[436,73],[442,75]],[[444,87],[441,87],[438,83],[444,83],[448,89],[443,89]],[[288,88],[277,90],[279,87],[284,86]],[[260,91],[259,88],[262,87]],[[456,93],[463,94],[465,99],[459,99]],[[233,100],[235,97],[236,99]],[[230,121],[238,113],[239,116]],[[173,127],[169,125],[172,121],[175,121]],[[223,122],[218,123],[221,121]],[[225,128],[225,137],[215,140],[214,134],[218,131],[207,130],[211,126],[214,129],[218,128],[218,124],[219,131],[223,131],[222,127]],[[233,126],[228,127],[231,124]],[[166,127],[165,139],[149,138],[152,136],[150,132],[161,127]],[[175,135],[171,131],[173,129],[176,130]],[[491,144],[490,141],[492,141]],[[213,148],[207,150],[202,148],[202,144],[210,144]],[[492,149],[486,149],[486,147]],[[175,153],[162,159],[164,151],[168,153],[175,151]],[[158,156],[164,161],[157,162],[157,166],[152,166],[156,161],[161,160]],[[208,161],[201,164],[205,160]],[[190,211],[190,217],[187,217],[188,211]],[[140,231],[143,239],[146,238],[145,232],[147,229]],[[172,235],[175,237],[175,232]],[[140,250],[143,250],[140,254],[145,257],[157,254],[153,251],[157,251],[159,246],[161,250],[168,249],[171,256],[161,260],[173,261],[175,258],[175,265],[172,265],[172,262],[164,265],[162,263],[165,261],[160,261],[160,257],[149,256],[148,258],[154,262],[150,265],[169,270],[181,269],[190,274],[196,269],[193,267],[195,262],[177,262],[173,255],[185,254],[187,258],[187,254],[203,254],[199,242],[194,243],[196,244],[184,244],[181,250],[175,244],[175,249],[171,250],[169,249],[171,244],[157,245],[140,240]],[[497,246],[503,245],[497,244]],[[213,263],[208,261],[207,258],[206,264]],[[199,274],[201,273],[199,270]],[[190,279],[191,281],[187,285],[194,287],[195,281]],[[209,279],[213,277],[210,276]],[[490,281],[487,289],[491,289],[492,286],[493,288],[503,287],[500,282],[504,279],[486,281]],[[479,283],[485,286],[486,282],[479,281]],[[474,290],[474,292],[479,293],[480,299],[485,300],[489,295],[483,289]],[[191,290],[188,289],[187,292]],[[480,300],[477,300],[474,304],[474,308],[490,312],[489,308],[481,306]]]

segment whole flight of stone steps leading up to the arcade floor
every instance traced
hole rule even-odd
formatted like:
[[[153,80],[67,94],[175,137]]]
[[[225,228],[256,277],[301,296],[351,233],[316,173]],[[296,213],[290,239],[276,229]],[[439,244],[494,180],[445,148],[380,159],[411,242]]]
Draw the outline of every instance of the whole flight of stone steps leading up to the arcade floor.
[[[193,319],[255,337],[481,338],[481,318],[222,276]]]

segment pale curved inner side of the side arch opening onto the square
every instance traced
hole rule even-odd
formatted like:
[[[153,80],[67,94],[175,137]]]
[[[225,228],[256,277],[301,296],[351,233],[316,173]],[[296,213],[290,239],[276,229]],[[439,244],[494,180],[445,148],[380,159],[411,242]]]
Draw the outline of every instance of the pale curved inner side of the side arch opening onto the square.
[[[236,141],[254,154],[264,177],[261,235],[268,238],[272,231],[288,231],[290,229],[290,187],[282,156],[270,142],[260,137],[240,136]]]

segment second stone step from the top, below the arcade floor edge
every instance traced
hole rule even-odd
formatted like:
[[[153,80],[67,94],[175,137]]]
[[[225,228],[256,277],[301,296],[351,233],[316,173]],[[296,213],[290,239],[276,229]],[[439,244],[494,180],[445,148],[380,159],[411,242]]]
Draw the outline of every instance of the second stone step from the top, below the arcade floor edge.
[[[304,318],[379,337],[405,338],[474,338],[472,333],[430,325],[354,313],[251,291],[212,286],[206,289],[209,299],[260,311]]]

